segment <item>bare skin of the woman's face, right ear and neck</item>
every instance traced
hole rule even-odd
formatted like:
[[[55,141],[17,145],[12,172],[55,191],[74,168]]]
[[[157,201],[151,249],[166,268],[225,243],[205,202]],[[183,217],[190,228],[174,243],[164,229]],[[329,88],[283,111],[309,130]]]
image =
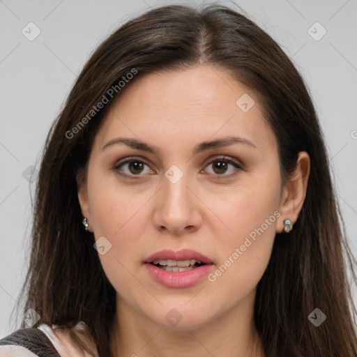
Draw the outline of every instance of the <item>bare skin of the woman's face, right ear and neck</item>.
[[[236,105],[243,93],[255,100],[248,112]],[[257,147],[238,143],[192,155],[200,142],[231,135]],[[101,149],[116,137],[140,139],[160,154],[123,144]],[[221,155],[243,169],[217,167],[212,161]],[[132,156],[147,165],[114,169]],[[183,173],[176,183],[165,177],[172,165]],[[253,321],[256,287],[275,233],[284,219],[298,218],[309,173],[309,155],[301,152],[296,174],[283,185],[277,142],[257,95],[226,70],[197,66],[128,84],[96,135],[86,179],[78,180],[89,230],[112,243],[99,258],[117,292],[114,356],[265,356]],[[214,272],[274,211],[280,216],[215,282],[163,287],[143,264],[159,250],[190,248],[209,257]],[[176,326],[165,319],[173,308],[182,317]]]

